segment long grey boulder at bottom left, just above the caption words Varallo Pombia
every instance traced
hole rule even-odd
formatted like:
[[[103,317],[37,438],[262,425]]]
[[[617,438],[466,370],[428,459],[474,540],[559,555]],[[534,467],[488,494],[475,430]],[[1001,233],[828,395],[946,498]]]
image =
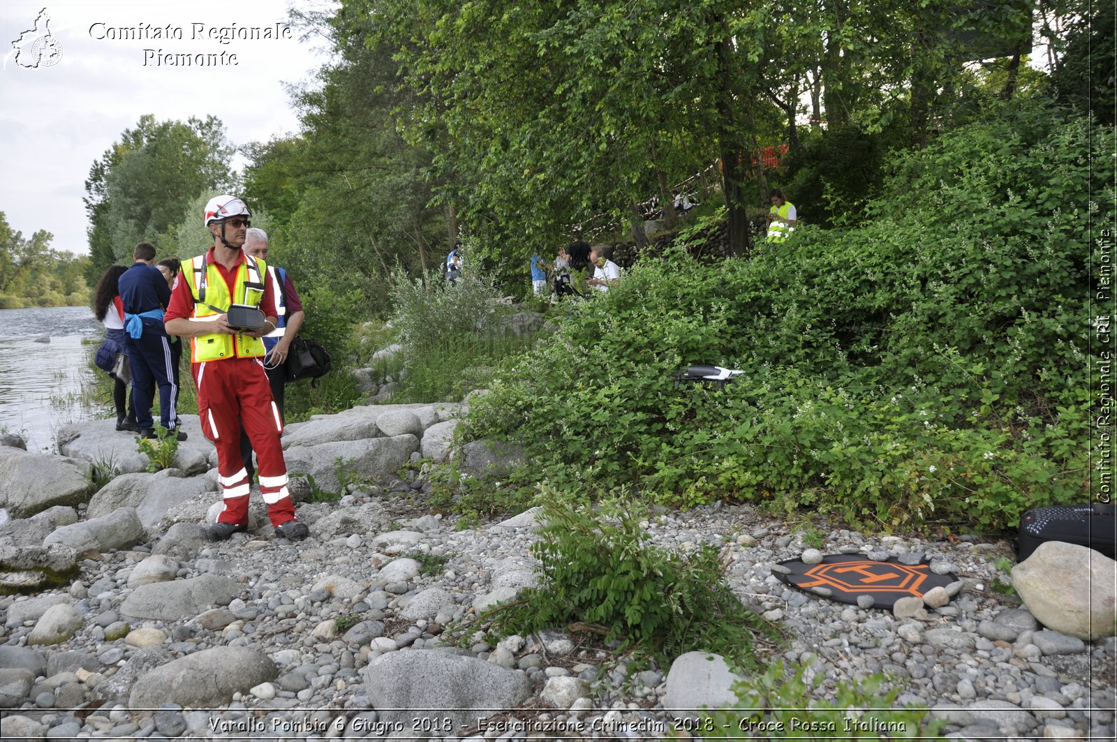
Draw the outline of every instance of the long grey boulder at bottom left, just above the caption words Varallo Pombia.
[[[248,694],[278,677],[275,663],[259,649],[213,647],[160,665],[140,678],[128,694],[132,708],[157,708],[164,703],[206,708]]]

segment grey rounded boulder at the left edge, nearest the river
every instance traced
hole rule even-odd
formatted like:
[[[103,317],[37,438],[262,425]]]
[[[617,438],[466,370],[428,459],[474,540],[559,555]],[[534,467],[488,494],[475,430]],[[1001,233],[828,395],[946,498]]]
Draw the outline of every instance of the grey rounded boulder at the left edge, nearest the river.
[[[86,462],[0,446],[0,507],[11,517],[30,517],[54,505],[77,505],[92,492]]]

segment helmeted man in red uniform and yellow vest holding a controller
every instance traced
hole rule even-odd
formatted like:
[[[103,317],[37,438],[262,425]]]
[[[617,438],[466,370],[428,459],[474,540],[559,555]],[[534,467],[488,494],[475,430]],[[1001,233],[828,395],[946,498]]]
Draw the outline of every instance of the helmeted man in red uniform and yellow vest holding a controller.
[[[225,507],[207,535],[219,541],[248,529],[251,483],[240,456],[244,430],[256,450],[260,495],[276,535],[299,540],[309,530],[295,520],[279,446],[283,421],[261,363],[260,337],[276,325],[275,295],[266,280],[265,261],[241,250],[250,217],[245,202],[233,196],[210,199],[202,219],[213,246],[182,264],[164,322],[169,333],[190,337],[202,434],[217,447]],[[227,313],[232,306],[259,310],[264,325],[257,330],[230,325]]]

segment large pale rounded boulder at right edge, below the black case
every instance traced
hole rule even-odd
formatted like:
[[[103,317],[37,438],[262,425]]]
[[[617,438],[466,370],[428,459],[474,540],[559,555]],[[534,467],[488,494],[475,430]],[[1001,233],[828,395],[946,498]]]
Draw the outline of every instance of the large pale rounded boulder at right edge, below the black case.
[[[1117,562],[1092,549],[1042,543],[1012,568],[1012,587],[1050,629],[1086,641],[1117,634]]]

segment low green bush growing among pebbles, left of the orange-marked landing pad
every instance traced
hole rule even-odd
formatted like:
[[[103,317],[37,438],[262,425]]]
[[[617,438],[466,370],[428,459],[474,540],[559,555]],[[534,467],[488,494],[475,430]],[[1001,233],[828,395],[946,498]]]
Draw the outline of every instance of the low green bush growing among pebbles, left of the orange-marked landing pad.
[[[753,666],[753,644],[775,636],[725,583],[716,549],[682,555],[652,545],[640,524],[646,513],[632,502],[608,501],[595,511],[555,492],[543,498],[542,539],[532,545],[540,584],[489,613],[497,632],[580,621],[665,667],[690,650]]]

